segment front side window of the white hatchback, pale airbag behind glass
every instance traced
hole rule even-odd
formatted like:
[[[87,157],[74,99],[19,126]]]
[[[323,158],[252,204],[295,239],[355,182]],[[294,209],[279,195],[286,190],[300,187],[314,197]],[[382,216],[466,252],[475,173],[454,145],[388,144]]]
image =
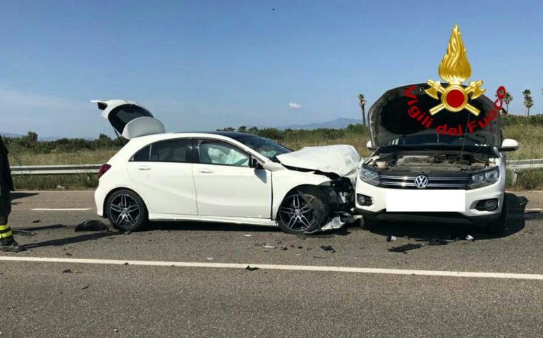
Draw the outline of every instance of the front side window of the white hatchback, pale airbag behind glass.
[[[200,163],[248,167],[250,156],[236,146],[224,142],[202,141],[199,146]]]

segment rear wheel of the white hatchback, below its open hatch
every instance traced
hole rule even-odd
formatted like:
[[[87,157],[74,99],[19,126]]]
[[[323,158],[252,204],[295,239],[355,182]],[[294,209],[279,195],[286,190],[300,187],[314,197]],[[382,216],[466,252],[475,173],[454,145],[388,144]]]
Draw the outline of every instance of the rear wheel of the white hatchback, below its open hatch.
[[[139,230],[147,224],[147,208],[141,197],[131,190],[118,190],[106,203],[109,223],[121,231]]]

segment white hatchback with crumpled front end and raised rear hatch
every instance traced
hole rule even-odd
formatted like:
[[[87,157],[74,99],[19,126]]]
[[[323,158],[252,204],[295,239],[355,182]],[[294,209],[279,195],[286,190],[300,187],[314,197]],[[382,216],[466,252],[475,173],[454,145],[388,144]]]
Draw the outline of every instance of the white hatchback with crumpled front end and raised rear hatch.
[[[92,102],[129,140],[102,165],[94,194],[97,213],[118,229],[196,220],[312,232],[354,206],[353,146],[293,152],[252,134],[166,133],[135,102]]]

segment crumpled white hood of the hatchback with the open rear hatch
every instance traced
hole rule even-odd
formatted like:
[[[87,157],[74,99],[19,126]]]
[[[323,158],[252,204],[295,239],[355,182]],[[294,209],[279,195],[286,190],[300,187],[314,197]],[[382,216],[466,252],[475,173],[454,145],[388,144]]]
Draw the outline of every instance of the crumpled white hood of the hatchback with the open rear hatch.
[[[341,177],[356,176],[360,156],[353,146],[306,146],[277,156],[288,167],[333,173]]]

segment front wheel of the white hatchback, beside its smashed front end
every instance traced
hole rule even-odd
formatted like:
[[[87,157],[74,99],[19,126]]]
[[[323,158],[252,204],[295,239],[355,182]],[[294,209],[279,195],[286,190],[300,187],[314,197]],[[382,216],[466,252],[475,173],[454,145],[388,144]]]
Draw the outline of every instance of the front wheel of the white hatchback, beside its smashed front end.
[[[329,213],[329,205],[319,188],[298,187],[283,199],[277,212],[277,223],[283,232],[303,234],[322,227]]]

